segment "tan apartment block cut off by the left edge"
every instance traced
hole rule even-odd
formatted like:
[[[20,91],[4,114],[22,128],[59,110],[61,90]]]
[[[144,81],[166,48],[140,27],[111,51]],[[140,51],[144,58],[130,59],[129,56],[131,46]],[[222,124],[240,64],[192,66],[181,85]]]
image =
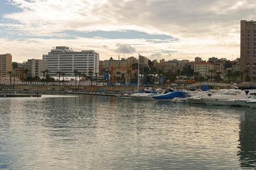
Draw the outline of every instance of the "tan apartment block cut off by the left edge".
[[[0,55],[0,80],[9,80],[8,72],[12,71],[12,55]]]

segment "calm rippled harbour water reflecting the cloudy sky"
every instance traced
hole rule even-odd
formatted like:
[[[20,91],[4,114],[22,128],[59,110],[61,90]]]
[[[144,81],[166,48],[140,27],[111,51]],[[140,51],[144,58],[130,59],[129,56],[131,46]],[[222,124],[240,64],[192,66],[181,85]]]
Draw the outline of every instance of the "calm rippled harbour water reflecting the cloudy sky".
[[[0,169],[254,169],[256,110],[0,98]]]

